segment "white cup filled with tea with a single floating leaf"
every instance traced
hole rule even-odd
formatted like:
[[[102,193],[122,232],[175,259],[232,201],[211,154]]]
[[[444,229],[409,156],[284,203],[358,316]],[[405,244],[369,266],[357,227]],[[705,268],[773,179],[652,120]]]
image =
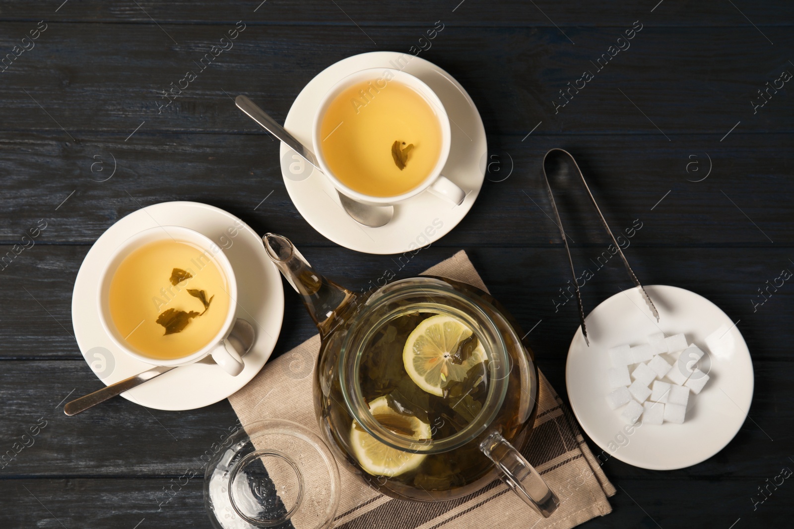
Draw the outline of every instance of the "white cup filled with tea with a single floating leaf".
[[[333,186],[354,200],[395,204],[430,190],[454,204],[465,193],[441,175],[449,156],[444,105],[404,71],[357,71],[329,90],[314,118],[314,151]]]

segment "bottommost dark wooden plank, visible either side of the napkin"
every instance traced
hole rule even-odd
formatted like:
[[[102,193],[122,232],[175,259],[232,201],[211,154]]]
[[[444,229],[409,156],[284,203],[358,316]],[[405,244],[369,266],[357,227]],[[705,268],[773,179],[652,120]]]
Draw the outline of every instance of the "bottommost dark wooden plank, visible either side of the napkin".
[[[788,465],[790,466],[790,462]],[[610,463],[607,463],[610,465]],[[622,465],[622,464],[620,464]],[[781,462],[765,468],[769,477],[777,476]],[[619,462],[607,468],[612,473]],[[4,527],[125,527],[133,529],[137,523],[144,527],[200,527],[209,529],[210,521],[203,510],[202,485],[191,480],[168,504],[160,505],[152,491],[162,491],[175,477],[152,477],[129,481],[114,479],[38,479],[0,481],[0,494],[17,506],[15,512],[0,511]],[[763,483],[761,478],[758,485]],[[790,516],[786,502],[788,491],[781,488],[764,504],[753,510],[750,495],[755,492],[753,481],[726,479],[665,479],[667,493],[660,492],[653,475],[625,477],[621,489],[610,499],[611,515],[592,519],[579,527],[606,529],[614,527],[694,527],[692,516],[681,505],[692,498],[708,500],[724,498],[719,510],[711,512],[709,521],[714,527],[730,527],[741,518],[746,527],[761,519],[785,523]],[[27,490],[26,490],[26,489]],[[624,491],[629,491],[626,494]],[[35,495],[35,497],[34,497]],[[637,500],[635,502],[634,500]],[[39,503],[40,502],[40,503]],[[706,509],[708,507],[703,507]],[[618,525],[620,513],[620,525]],[[37,525],[38,524],[38,525]],[[781,526],[786,527],[786,526]]]

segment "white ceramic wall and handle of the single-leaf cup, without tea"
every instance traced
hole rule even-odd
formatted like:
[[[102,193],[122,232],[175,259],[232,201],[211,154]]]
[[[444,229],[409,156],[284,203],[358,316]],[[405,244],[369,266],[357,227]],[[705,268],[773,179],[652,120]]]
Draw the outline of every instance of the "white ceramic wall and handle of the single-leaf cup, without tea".
[[[422,180],[422,183],[414,187],[414,189],[400,195],[395,195],[394,197],[373,197],[372,195],[359,193],[356,190],[350,189],[348,186],[345,186],[345,184],[342,183],[339,178],[334,176],[333,171],[331,171],[328,167],[326,159],[322,154],[322,137],[320,127],[322,125],[323,118],[326,116],[326,111],[328,110],[329,105],[334,99],[337,98],[339,94],[341,94],[342,91],[346,90],[349,86],[366,81],[372,81],[372,90],[384,90],[384,88],[386,88],[390,82],[400,82],[403,85],[412,88],[426,99],[428,105],[430,105],[430,108],[433,109],[434,113],[436,114],[438,124],[441,125],[441,153],[438,155],[438,160],[433,167],[433,170],[430,171],[430,174],[428,174],[426,178]],[[322,98],[322,102],[318,106],[317,113],[314,114],[314,124],[312,125],[314,156],[317,158],[322,172],[326,174],[333,186],[337,188],[340,193],[353,198],[353,200],[370,205],[397,204],[399,202],[406,201],[411,197],[415,197],[426,190],[430,191],[430,193],[434,195],[437,195],[438,197],[452,202],[453,204],[460,205],[466,197],[464,190],[461,190],[461,188],[456,186],[452,181],[449,180],[449,178],[446,178],[441,174],[441,169],[443,169],[446,160],[449,157],[450,138],[451,132],[449,130],[449,117],[446,114],[444,105],[441,104],[441,100],[438,98],[435,92],[430,90],[430,86],[427,86],[424,82],[420,81],[413,75],[407,74],[402,70],[396,70],[395,68],[368,68],[366,70],[357,71],[351,75],[348,75],[344,79],[341,79],[341,81],[333,85],[331,89],[328,90],[328,93],[325,95],[325,97]]]

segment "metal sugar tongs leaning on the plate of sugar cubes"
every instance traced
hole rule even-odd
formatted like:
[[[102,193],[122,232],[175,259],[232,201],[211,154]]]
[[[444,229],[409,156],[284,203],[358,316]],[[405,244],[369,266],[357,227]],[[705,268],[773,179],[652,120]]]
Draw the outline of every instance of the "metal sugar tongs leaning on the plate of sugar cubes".
[[[553,167],[553,171],[547,171],[546,167],[548,163],[557,163],[556,167]],[[573,269],[573,259],[571,258],[571,249],[568,246],[568,239],[565,237],[565,230],[562,228],[562,220],[560,219],[560,212],[557,210],[557,204],[554,202],[554,195],[551,191],[551,185],[549,184],[549,174],[560,173],[562,171],[569,171],[570,169],[575,169],[575,171],[570,171],[570,174],[579,174],[579,178],[581,179],[582,183],[584,184],[584,189],[588,191],[588,196],[593,203],[593,207],[595,207],[595,213],[598,213],[599,219],[601,219],[601,224],[607,230],[611,240],[615,243],[615,247],[618,249],[620,254],[620,258],[623,260],[623,264],[626,266],[626,271],[629,273],[629,277],[631,281],[634,282],[634,285],[637,286],[640,291],[642,292],[642,296],[645,297],[646,305],[648,305],[650,312],[653,312],[653,316],[656,316],[656,320],[659,321],[659,312],[657,311],[656,307],[653,305],[653,301],[650,300],[648,293],[646,290],[642,288],[642,284],[640,284],[639,279],[636,275],[634,275],[634,270],[631,270],[631,266],[629,266],[628,260],[626,260],[626,255],[623,255],[623,251],[620,249],[620,245],[618,241],[615,240],[615,236],[612,235],[612,230],[609,228],[607,224],[607,220],[603,218],[603,213],[598,207],[598,204],[595,203],[595,197],[590,192],[590,188],[588,187],[588,182],[585,182],[584,175],[579,168],[579,165],[576,163],[576,160],[573,159],[573,156],[569,151],[565,151],[563,149],[554,148],[546,152],[545,156],[543,157],[543,178],[545,178],[546,190],[549,192],[549,200],[551,201],[551,207],[554,210],[554,217],[557,219],[557,228],[560,228],[560,236],[562,237],[562,242],[565,243],[565,251],[568,253],[568,263],[571,266],[571,274],[573,276],[573,286],[576,289],[576,302],[579,304],[579,319],[582,322],[582,334],[584,335],[584,341],[590,346],[590,340],[588,340],[588,330],[584,326],[584,309],[582,308],[582,296],[579,292],[579,283],[576,282],[576,271]]]

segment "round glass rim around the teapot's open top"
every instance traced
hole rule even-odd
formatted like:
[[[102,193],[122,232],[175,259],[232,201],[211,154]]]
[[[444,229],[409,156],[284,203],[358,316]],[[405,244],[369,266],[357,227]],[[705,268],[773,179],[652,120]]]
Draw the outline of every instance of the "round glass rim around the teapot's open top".
[[[411,313],[452,316],[461,321],[476,335],[482,344],[486,362],[485,378],[488,380],[487,396],[482,408],[468,424],[454,435],[417,441],[384,427],[372,415],[360,381],[362,358],[373,339],[384,334],[384,329]],[[498,415],[507,394],[507,378],[511,372],[511,359],[507,345],[494,320],[480,304],[448,282],[437,278],[419,277],[392,282],[368,298],[354,316],[345,335],[340,355],[339,370],[345,404],[364,430],[380,442],[398,450],[414,453],[436,454],[462,447],[480,435]],[[462,399],[461,399],[462,400]]]

